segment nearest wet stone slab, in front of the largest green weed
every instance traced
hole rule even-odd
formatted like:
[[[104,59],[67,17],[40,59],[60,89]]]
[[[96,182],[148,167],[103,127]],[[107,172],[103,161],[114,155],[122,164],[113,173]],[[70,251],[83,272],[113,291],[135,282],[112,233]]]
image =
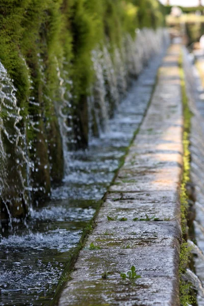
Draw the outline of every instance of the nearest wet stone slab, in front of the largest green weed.
[[[157,279],[139,278],[137,283],[129,284],[118,278],[110,279],[90,279],[78,283],[72,281],[67,286],[64,293],[69,296],[70,301],[62,305],[72,306],[148,306],[148,305],[177,305],[177,278],[157,277]],[[128,288],[128,289],[127,289]],[[78,291],[80,294],[75,295]],[[88,295],[87,295],[88,292]],[[114,293],[113,293],[114,292]],[[151,294],[149,295],[149,292]],[[103,300],[103,303],[100,301]]]

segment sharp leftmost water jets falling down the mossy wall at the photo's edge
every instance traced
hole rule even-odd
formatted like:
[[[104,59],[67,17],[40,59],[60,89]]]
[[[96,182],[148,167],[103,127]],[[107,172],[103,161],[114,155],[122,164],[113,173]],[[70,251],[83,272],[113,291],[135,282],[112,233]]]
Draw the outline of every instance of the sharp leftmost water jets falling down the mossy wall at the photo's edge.
[[[28,169],[26,137],[24,127],[20,129],[20,108],[17,106],[16,89],[0,62],[0,193],[11,222],[12,206],[22,209],[22,200],[28,205]],[[14,185],[15,182],[15,185]],[[15,190],[11,186],[15,186]],[[28,207],[27,207],[28,209]]]

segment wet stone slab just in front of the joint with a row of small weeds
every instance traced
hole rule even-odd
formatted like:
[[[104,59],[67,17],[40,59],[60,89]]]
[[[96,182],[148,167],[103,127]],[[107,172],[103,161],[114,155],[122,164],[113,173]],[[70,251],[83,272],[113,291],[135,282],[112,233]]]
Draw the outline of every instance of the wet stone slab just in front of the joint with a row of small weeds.
[[[166,222],[166,221],[164,221]],[[138,221],[135,222],[106,222],[98,226],[87,240],[85,249],[89,249],[90,244],[103,249],[110,248],[137,248],[140,246],[173,246],[181,238],[177,221],[167,222]],[[123,223],[123,224],[122,224]],[[173,237],[173,238],[172,238]]]

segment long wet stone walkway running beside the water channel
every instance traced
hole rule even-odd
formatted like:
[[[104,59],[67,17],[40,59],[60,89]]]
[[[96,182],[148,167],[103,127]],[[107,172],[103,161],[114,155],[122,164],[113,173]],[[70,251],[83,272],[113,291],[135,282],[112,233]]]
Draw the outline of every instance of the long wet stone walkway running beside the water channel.
[[[60,306],[180,304],[179,56],[180,46],[172,45],[141,129],[79,254]],[[132,266],[141,278],[123,279],[120,273]],[[107,278],[102,278],[105,272]]]

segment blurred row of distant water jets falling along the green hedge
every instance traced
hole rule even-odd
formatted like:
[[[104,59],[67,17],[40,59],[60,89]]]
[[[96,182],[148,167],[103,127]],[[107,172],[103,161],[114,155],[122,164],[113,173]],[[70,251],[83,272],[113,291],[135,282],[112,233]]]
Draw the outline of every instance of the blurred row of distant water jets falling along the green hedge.
[[[101,136],[109,131],[109,120],[116,112],[127,86],[138,77],[153,55],[169,43],[166,30],[137,30],[136,39],[126,35],[121,52],[115,48],[114,54],[109,46],[92,52],[95,82],[88,101],[89,136]]]

